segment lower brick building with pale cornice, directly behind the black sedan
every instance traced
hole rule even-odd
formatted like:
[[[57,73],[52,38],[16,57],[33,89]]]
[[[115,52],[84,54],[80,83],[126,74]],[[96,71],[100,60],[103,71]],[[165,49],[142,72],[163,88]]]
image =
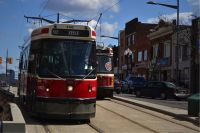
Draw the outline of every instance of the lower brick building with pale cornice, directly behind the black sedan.
[[[149,79],[172,80],[172,34],[174,27],[160,21],[158,26],[148,35],[151,41],[151,63]]]

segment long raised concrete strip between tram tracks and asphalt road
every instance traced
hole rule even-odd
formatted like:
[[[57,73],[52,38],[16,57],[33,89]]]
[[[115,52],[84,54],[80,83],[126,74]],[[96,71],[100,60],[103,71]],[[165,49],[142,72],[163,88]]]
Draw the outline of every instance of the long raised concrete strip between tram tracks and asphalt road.
[[[179,109],[179,108],[172,108],[168,106],[163,106],[163,105],[158,105],[158,104],[153,104],[149,102],[144,102],[144,101],[139,101],[135,99],[130,99],[130,98],[124,98],[124,97],[119,97],[119,96],[113,96],[113,99],[127,102],[136,106],[140,106],[143,108],[147,108],[153,111],[157,111],[166,115],[170,115],[182,120],[186,120],[195,124],[199,125],[199,117],[192,117],[188,115],[188,111],[185,109]]]

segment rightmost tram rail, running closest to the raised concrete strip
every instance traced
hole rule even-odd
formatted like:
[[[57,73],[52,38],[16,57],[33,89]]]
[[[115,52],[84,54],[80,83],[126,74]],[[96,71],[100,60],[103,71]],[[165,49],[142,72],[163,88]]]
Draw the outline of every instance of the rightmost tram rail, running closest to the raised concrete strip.
[[[116,104],[119,104],[119,105],[122,105],[122,106],[125,106],[125,107],[128,107],[128,108],[131,108],[131,109],[140,111],[140,112],[142,112],[142,113],[145,113],[145,114],[151,115],[151,116],[153,116],[153,117],[156,117],[156,118],[159,118],[159,119],[162,119],[162,120],[171,122],[171,123],[176,124],[176,125],[179,125],[179,126],[183,126],[183,127],[188,128],[188,129],[190,129],[190,130],[200,132],[199,129],[195,129],[195,128],[192,128],[192,127],[190,127],[190,126],[188,126],[188,125],[181,124],[181,123],[178,123],[178,122],[176,122],[176,121],[172,121],[172,120],[169,120],[169,119],[167,119],[167,118],[160,117],[160,116],[158,116],[158,115],[149,113],[149,112],[147,112],[147,111],[143,111],[143,110],[140,110],[140,109],[138,109],[138,108],[134,108],[134,107],[132,107],[132,106],[126,105],[126,104],[129,104],[129,103],[124,104],[124,103],[122,103],[121,101],[117,101],[117,100],[113,100],[113,99],[111,99],[110,102],[113,102],[113,103],[116,103]],[[141,107],[140,107],[140,108],[141,108]],[[107,109],[107,110],[109,110],[109,109]],[[113,112],[113,111],[112,111],[112,112]],[[115,112],[115,113],[116,113],[116,112]],[[123,117],[124,117],[124,116],[123,116]]]

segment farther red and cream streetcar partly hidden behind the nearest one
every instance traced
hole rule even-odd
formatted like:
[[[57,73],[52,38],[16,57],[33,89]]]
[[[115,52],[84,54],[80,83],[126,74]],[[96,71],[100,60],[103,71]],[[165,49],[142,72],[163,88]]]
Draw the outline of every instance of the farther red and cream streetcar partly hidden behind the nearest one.
[[[112,67],[113,50],[97,45],[97,98],[112,98],[114,90],[114,72]]]

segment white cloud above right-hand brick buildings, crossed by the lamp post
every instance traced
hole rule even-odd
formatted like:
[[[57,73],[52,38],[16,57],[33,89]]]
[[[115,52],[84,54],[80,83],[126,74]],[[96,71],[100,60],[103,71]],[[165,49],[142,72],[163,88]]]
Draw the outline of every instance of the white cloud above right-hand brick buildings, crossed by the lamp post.
[[[192,12],[183,12],[179,13],[179,23],[180,24],[191,24]],[[172,21],[177,19],[177,13],[169,14],[169,15],[162,15],[157,18],[149,18],[147,23],[158,23],[159,18],[164,18],[167,21]]]

